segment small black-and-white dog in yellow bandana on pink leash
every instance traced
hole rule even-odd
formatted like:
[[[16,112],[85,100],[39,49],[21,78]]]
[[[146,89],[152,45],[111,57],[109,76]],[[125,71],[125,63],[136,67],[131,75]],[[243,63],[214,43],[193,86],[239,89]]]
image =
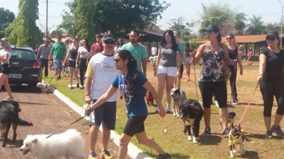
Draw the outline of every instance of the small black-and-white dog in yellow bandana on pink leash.
[[[229,133],[229,146],[230,146],[230,157],[234,157],[235,150],[235,144],[239,144],[239,150],[242,150],[242,154],[246,154],[245,146],[243,144],[245,137],[244,137],[244,131],[240,127],[241,123],[238,124],[238,127],[234,127],[232,124],[232,130],[230,130]]]

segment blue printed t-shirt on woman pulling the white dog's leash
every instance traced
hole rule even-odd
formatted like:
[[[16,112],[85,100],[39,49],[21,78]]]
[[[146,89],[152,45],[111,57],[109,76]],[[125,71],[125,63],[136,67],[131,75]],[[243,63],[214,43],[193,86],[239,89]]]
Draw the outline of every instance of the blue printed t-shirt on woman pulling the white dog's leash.
[[[138,85],[135,89],[135,97],[130,96],[126,85],[124,85],[124,78],[118,74],[112,81],[112,86],[118,88],[118,86],[123,89],[124,86],[124,99],[127,107],[128,116],[145,116],[148,114],[148,109],[146,102],[144,100],[143,85],[147,82],[147,78],[143,74],[138,73]],[[120,80],[119,80],[120,79]],[[120,82],[120,83],[119,83]]]

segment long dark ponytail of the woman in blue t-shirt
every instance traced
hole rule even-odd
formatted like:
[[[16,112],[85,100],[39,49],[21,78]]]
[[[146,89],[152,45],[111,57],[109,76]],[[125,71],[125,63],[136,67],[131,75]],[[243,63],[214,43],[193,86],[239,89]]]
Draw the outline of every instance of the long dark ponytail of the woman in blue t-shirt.
[[[125,77],[125,85],[129,95],[135,96],[135,88],[138,85],[137,78],[137,61],[128,50],[120,50],[118,55],[121,59],[128,59],[127,63],[127,76]]]

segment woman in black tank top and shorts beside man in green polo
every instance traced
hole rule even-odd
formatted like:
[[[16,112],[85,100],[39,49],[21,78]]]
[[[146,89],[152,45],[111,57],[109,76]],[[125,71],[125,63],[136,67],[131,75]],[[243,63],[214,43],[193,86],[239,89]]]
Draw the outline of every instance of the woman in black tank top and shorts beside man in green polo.
[[[69,90],[73,89],[73,73],[77,81],[77,88],[79,88],[79,76],[78,76],[78,69],[76,69],[76,58],[78,54],[78,39],[73,38],[73,47],[68,49],[67,55],[63,62],[63,65],[68,61],[68,70],[70,73],[70,88]]]

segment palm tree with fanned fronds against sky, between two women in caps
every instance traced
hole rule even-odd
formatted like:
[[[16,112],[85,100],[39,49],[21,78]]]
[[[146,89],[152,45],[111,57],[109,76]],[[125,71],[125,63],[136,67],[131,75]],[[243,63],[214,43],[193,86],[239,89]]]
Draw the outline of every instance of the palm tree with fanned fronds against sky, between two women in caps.
[[[264,27],[264,21],[262,21],[262,16],[256,16],[253,14],[252,18],[249,18],[249,24],[247,26],[246,32],[250,35],[260,35]]]

